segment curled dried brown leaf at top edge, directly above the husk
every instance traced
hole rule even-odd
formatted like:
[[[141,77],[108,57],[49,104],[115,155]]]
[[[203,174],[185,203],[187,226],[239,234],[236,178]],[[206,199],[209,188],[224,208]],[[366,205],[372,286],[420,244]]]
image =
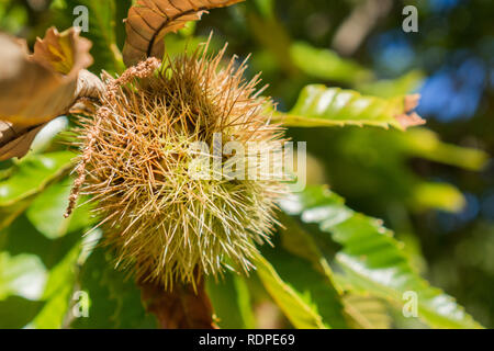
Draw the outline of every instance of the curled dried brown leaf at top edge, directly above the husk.
[[[134,66],[151,56],[161,59],[167,33],[177,32],[188,21],[200,20],[207,10],[240,1],[244,0],[137,0],[125,20],[125,65]]]

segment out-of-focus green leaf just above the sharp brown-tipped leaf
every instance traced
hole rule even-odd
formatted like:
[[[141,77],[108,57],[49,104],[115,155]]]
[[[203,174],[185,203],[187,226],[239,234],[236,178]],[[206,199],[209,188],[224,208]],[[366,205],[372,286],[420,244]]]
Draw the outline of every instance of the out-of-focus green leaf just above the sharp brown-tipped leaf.
[[[356,83],[368,81],[373,76],[369,69],[335,52],[315,48],[303,42],[291,45],[290,56],[303,72],[324,80]]]

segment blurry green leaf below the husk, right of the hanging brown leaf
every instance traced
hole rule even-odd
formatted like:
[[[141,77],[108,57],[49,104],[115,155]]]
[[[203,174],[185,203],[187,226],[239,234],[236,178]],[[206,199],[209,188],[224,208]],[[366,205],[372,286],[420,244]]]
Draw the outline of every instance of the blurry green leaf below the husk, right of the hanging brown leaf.
[[[206,281],[207,295],[218,319],[216,324],[223,329],[252,329],[255,319],[250,294],[245,280],[233,273],[225,273],[215,282]]]

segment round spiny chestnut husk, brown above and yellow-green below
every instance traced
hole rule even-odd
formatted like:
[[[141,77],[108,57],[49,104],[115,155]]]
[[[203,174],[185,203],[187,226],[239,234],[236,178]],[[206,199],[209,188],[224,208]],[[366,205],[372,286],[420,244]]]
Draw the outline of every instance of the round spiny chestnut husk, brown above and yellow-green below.
[[[277,180],[188,174],[191,143],[212,145],[214,133],[243,144],[282,138],[256,90],[259,78],[245,81],[245,63],[236,67],[234,59],[221,68],[223,55],[203,49],[169,59],[147,79],[127,71],[127,83],[113,81],[99,113],[81,124],[79,185],[98,202],[104,242],[137,279],[166,288],[193,282],[194,270],[217,274],[228,261],[248,271],[285,191]],[[246,158],[256,151],[246,148]]]

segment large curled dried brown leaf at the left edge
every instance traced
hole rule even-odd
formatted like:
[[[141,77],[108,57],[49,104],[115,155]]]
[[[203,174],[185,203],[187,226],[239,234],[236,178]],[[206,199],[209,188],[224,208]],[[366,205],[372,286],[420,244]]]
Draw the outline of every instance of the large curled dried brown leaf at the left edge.
[[[25,41],[0,33],[0,160],[24,156],[50,120],[80,98],[97,99],[104,86],[85,70],[91,43],[75,29],[46,31],[30,55]]]

